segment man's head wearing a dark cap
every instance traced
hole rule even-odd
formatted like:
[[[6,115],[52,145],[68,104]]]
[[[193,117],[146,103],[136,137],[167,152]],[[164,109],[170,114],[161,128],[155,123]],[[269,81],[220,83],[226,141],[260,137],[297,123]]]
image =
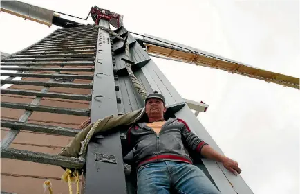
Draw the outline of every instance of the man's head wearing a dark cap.
[[[145,100],[145,107],[149,122],[164,119],[167,108],[165,107],[165,97],[162,94],[158,94],[157,91],[149,94]]]

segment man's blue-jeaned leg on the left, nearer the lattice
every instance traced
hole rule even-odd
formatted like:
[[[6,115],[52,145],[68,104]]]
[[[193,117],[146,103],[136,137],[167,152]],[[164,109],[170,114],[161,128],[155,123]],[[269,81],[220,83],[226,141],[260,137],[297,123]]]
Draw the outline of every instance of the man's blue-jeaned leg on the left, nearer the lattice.
[[[138,169],[138,194],[169,194],[171,180],[164,161]]]

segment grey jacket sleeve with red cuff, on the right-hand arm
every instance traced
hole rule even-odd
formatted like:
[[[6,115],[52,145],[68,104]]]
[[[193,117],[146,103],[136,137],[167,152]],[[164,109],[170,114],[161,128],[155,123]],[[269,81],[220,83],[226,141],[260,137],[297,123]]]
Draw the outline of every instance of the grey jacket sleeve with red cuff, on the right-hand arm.
[[[181,136],[182,136],[182,141],[185,142],[188,148],[191,150],[196,150],[201,154],[201,149],[203,148],[204,145],[208,145],[203,141],[202,139],[198,138],[191,130],[189,129],[189,126],[185,121],[182,119],[178,119],[180,123],[183,123],[183,127],[181,128]]]

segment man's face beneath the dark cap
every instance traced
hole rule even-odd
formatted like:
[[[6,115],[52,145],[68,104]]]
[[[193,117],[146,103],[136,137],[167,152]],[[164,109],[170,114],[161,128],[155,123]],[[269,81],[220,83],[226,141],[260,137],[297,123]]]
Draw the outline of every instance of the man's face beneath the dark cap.
[[[164,103],[159,98],[150,98],[146,103],[146,113],[149,117],[163,116],[166,112]]]

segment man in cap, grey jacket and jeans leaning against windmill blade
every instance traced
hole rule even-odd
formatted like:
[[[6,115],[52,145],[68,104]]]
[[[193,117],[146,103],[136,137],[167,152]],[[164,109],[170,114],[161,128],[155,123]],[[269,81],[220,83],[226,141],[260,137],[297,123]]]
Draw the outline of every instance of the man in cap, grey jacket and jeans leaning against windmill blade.
[[[157,92],[145,100],[146,122],[133,123],[126,134],[128,142],[124,160],[133,159],[137,172],[138,193],[220,193],[200,168],[192,164],[189,152],[223,163],[235,175],[241,173],[238,163],[219,154],[198,138],[185,121],[164,118],[165,97]],[[84,123],[86,127],[88,123]]]

